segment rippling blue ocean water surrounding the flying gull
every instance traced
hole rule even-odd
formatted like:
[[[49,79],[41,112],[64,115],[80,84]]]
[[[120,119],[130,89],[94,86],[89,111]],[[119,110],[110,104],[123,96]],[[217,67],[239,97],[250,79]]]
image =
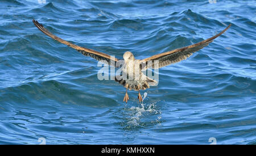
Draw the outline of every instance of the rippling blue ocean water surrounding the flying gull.
[[[256,144],[256,1],[1,0],[0,144]],[[137,92],[52,40],[142,59],[212,37]],[[145,95],[146,95],[145,94]]]

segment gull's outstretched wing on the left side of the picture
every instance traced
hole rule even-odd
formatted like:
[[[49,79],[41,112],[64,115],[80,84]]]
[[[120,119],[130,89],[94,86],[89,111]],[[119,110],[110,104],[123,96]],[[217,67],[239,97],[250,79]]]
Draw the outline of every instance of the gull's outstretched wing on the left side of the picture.
[[[69,43],[68,41],[65,41],[63,39],[60,39],[60,37],[53,35],[46,28],[44,28],[42,24],[40,24],[38,21],[36,21],[34,19],[33,19],[33,23],[35,24],[36,27],[38,27],[38,29],[40,31],[42,31],[47,36],[51,37],[52,39],[54,39],[56,41],[59,41],[60,43],[68,45],[69,47],[71,47],[73,49],[78,50],[80,53],[82,53],[85,56],[90,56],[98,61],[105,60],[106,62],[108,62],[109,65],[112,65],[112,64],[115,65],[115,63],[118,61],[117,58],[110,57],[110,55],[108,55],[108,54],[97,52],[96,50],[80,47],[78,45]],[[110,64],[110,62],[112,62],[112,61],[114,61],[114,62],[112,64]]]

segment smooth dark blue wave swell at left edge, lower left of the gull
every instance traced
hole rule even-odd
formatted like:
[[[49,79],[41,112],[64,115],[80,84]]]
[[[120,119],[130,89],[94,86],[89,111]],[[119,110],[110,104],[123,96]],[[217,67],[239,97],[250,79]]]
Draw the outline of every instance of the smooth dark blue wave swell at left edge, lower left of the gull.
[[[13,87],[6,87],[1,90],[1,96],[13,96],[15,97],[13,98],[14,102],[24,97],[26,99],[37,100],[48,99],[56,101],[57,103],[76,104],[95,108],[117,105],[116,100],[113,98],[97,94],[95,91],[85,91],[85,86],[80,90],[70,82],[63,83],[56,80],[27,82]],[[102,103],[102,98],[104,98],[104,103]],[[11,102],[11,100],[9,100],[9,102]]]

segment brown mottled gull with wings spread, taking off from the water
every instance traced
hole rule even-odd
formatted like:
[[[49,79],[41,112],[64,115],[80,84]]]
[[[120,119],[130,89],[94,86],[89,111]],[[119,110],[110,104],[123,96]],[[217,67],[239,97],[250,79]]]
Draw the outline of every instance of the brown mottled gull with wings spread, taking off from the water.
[[[146,75],[144,75],[142,72],[143,70],[146,70],[148,68],[158,69],[170,64],[174,64],[181,60],[185,60],[186,58],[191,56],[194,52],[206,47],[209,43],[211,43],[214,39],[216,39],[218,36],[224,33],[231,26],[231,24],[229,24],[228,27],[226,27],[223,31],[221,31],[217,35],[210,37],[207,40],[200,41],[199,43],[189,45],[187,47],[171,50],[171,51],[160,53],[160,54],[155,54],[154,56],[144,58],[143,60],[135,59],[133,53],[128,51],[123,54],[123,60],[119,60],[115,57],[111,57],[109,54],[105,54],[102,52],[97,52],[96,50],[80,47],[78,45],[65,41],[60,37],[53,35],[46,28],[44,28],[42,24],[40,24],[38,21],[34,19],[33,19],[33,23],[40,31],[45,33],[47,36],[51,37],[56,41],[59,41],[60,43],[68,45],[73,49],[78,50],[80,53],[84,54],[84,56],[90,56],[98,61],[105,61],[106,64],[112,65],[112,66],[113,66],[112,62],[114,62],[114,66],[118,68],[120,67],[120,66],[117,66],[117,64],[120,64],[118,61],[124,61],[123,68],[122,68],[122,75],[120,75],[118,78],[116,77],[115,81],[117,81],[119,84],[123,85],[126,88],[125,97],[123,98],[123,102],[126,102],[126,103],[127,103],[127,100],[129,100],[129,96],[127,94],[128,89],[138,91],[139,102],[142,102],[142,96],[139,91],[145,90],[146,88],[149,88],[150,86],[154,86],[155,84],[158,83],[154,79],[151,79]]]

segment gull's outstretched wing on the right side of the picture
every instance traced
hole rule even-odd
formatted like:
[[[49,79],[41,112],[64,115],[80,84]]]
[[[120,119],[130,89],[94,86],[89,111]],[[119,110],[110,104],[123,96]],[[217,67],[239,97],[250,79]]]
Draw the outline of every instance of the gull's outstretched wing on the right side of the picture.
[[[154,56],[145,58],[141,60],[142,70],[146,70],[147,68],[162,68],[163,66],[167,66],[170,64],[174,64],[181,60],[185,60],[187,57],[191,56],[194,52],[206,47],[209,43],[211,43],[214,39],[224,33],[228,27],[226,27],[223,31],[218,33],[217,35],[210,37],[207,40],[203,40],[199,43],[189,45],[187,47],[171,50],[168,52],[156,54]],[[157,65],[158,64],[158,65]]]

